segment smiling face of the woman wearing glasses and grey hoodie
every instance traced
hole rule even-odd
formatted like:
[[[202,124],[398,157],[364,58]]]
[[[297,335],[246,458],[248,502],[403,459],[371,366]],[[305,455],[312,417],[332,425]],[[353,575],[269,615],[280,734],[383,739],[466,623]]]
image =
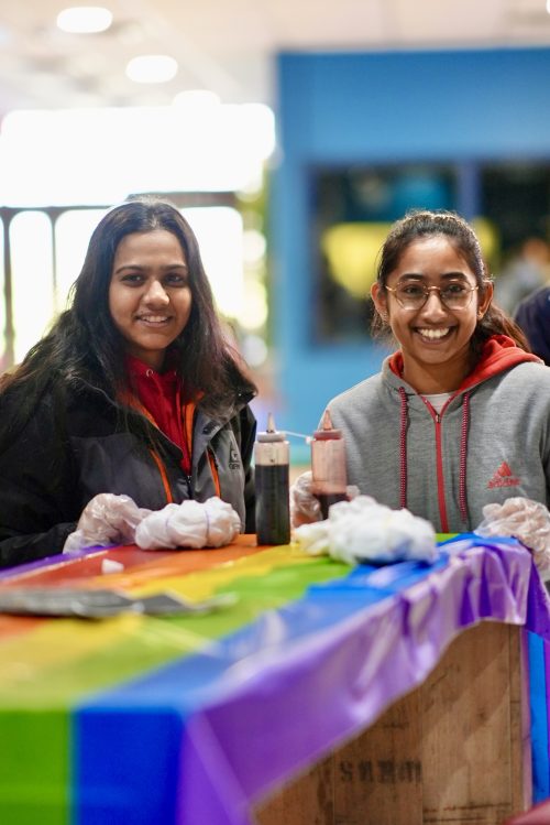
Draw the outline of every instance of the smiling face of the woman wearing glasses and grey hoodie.
[[[443,235],[419,238],[405,248],[396,268],[387,278],[387,287],[410,284],[414,287],[461,284],[475,287],[477,281],[466,260]],[[481,293],[481,294],[480,294]],[[493,287],[472,291],[470,303],[450,310],[439,293],[429,292],[419,310],[399,305],[395,293],[380,283],[372,289],[377,311],[389,321],[403,352],[404,379],[420,393],[451,392],[472,369],[470,339],[477,321],[486,312]]]

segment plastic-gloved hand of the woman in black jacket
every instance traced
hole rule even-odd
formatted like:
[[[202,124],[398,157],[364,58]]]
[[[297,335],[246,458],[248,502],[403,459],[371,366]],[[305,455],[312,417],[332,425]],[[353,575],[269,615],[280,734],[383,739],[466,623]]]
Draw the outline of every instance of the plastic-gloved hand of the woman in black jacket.
[[[151,510],[138,507],[130,496],[100,492],[84,508],[76,530],[67,536],[64,553],[82,547],[132,544],[135,528]]]

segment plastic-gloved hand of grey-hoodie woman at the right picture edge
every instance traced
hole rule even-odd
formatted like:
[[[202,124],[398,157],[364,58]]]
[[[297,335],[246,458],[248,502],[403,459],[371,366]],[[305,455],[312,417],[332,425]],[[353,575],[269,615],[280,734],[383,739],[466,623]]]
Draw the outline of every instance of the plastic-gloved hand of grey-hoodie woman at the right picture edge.
[[[519,539],[532,552],[541,578],[550,580],[550,512],[540,501],[515,496],[504,504],[485,504],[483,521],[474,533]]]

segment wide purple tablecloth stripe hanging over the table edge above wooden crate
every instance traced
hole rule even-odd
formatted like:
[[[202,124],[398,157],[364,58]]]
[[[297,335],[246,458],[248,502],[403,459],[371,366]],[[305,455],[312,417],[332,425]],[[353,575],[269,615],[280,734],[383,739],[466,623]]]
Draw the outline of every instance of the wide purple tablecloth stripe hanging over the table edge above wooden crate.
[[[234,690],[226,685],[220,701],[201,708],[199,719],[186,726],[187,749],[201,770],[195,764],[194,782],[188,782],[189,760],[184,758],[188,815],[182,822],[196,822],[193,813],[204,804],[200,800],[220,796],[220,764],[230,770],[233,803],[222,805],[224,815],[215,816],[211,825],[251,822],[235,804],[239,796],[252,803],[373,724],[424,682],[462,630],[482,619],[525,625],[531,567],[531,556],[520,546],[472,546],[404,593],[285,645],[280,658],[273,651],[262,666],[242,662]],[[543,609],[540,600],[536,608]],[[548,600],[544,609],[548,614]],[[243,747],[246,730],[254,737]]]

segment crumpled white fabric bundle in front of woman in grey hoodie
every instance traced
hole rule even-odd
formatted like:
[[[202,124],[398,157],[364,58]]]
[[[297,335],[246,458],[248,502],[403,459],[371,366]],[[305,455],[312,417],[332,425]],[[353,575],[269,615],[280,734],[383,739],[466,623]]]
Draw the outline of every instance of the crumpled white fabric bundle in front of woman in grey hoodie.
[[[328,554],[346,564],[433,562],[438,555],[429,521],[409,510],[392,510],[371,496],[332,504],[328,519],[296,528],[293,540],[310,555]]]

